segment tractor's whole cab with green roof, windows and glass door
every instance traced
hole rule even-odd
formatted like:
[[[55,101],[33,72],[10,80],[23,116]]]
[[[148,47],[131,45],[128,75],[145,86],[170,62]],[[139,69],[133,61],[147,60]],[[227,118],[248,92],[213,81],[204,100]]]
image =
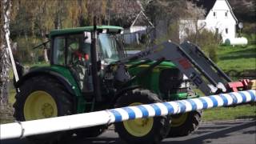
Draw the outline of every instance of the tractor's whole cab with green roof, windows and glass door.
[[[125,52],[118,38],[118,26],[97,26],[96,50],[98,69],[124,58]],[[91,45],[93,27],[53,30],[51,39],[51,66],[68,67],[82,92],[93,92]]]

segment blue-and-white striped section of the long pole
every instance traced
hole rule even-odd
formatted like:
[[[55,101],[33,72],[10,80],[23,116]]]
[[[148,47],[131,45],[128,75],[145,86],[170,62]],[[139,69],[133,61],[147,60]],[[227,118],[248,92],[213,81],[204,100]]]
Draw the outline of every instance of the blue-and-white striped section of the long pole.
[[[167,114],[180,114],[219,106],[232,106],[240,103],[256,102],[255,95],[255,90],[247,90],[174,102],[127,106],[110,110],[110,112],[114,114],[114,118],[112,118],[111,122],[122,122],[134,118],[148,118]]]

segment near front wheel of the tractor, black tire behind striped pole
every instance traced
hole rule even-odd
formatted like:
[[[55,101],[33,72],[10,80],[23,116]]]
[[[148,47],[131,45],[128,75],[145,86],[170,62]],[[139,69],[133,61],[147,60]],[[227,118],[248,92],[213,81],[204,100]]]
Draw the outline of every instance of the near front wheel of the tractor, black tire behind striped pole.
[[[115,107],[123,107],[123,106],[134,106],[139,104],[148,104],[162,102],[156,94],[150,92],[150,90],[132,90],[123,94],[115,104]],[[170,130],[170,118],[167,116],[158,116],[154,118],[143,118],[141,119],[142,126],[148,125],[150,123],[150,128],[146,130],[143,135],[131,134],[129,130],[127,130],[127,125],[125,122],[117,122],[114,124],[115,131],[118,132],[120,138],[122,138],[127,143],[146,143],[153,144],[161,142],[163,138],[166,138]],[[153,121],[152,121],[153,120]],[[126,121],[128,122],[128,121]],[[135,122],[135,120],[131,120],[130,122]],[[149,122],[149,123],[148,123]],[[145,125],[144,125],[145,124]],[[126,125],[126,126],[125,126]],[[138,125],[135,125],[135,127]],[[143,129],[143,127],[142,127]],[[136,128],[134,128],[136,132]],[[139,132],[138,132],[139,133]]]

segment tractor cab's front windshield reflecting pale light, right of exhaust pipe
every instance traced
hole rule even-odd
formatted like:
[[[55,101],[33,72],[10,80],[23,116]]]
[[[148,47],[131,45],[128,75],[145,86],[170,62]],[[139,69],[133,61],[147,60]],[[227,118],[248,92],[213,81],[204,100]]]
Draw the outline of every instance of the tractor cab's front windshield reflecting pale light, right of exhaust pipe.
[[[106,63],[118,61],[124,57],[124,50],[121,42],[113,34],[98,35],[98,55]]]

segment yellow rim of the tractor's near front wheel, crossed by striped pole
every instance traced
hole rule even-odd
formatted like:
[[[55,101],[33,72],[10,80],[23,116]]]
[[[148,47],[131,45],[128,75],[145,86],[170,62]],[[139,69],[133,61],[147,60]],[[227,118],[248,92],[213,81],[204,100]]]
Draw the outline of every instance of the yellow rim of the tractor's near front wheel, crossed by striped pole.
[[[140,102],[134,102],[129,106],[142,105]],[[134,120],[128,120],[123,122],[125,129],[135,137],[145,136],[152,130],[154,124],[154,118],[138,118]]]

